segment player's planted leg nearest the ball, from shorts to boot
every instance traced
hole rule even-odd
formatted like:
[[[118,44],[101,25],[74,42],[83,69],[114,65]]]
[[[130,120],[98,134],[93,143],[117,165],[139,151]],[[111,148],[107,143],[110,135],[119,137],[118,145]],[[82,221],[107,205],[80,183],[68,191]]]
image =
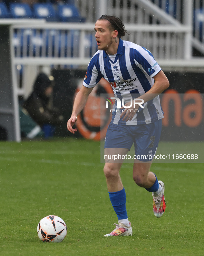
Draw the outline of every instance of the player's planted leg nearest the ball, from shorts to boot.
[[[128,138],[125,127],[110,124],[105,139],[105,156],[107,156],[104,166],[109,198],[118,217],[116,228],[105,236],[132,236],[132,227],[128,220],[126,210],[126,193],[120,179],[119,171],[123,159],[133,144],[133,139]],[[121,146],[121,148],[120,148]]]

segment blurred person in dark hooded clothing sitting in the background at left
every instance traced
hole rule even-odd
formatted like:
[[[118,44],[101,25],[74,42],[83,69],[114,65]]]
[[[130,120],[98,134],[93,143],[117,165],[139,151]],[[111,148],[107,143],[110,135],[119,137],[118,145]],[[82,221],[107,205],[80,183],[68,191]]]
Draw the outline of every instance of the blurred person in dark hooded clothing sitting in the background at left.
[[[40,73],[32,93],[23,104],[32,119],[40,125],[45,138],[52,137],[56,125],[60,125],[64,119],[58,109],[51,108],[49,105],[52,91],[52,81],[45,73]]]

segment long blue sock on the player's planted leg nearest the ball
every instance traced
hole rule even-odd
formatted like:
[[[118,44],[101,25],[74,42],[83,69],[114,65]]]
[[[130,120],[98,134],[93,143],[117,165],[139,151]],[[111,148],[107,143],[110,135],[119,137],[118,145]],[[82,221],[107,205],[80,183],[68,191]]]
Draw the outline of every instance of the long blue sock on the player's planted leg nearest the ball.
[[[110,202],[117,214],[118,220],[127,219],[125,188],[117,192],[108,192]]]

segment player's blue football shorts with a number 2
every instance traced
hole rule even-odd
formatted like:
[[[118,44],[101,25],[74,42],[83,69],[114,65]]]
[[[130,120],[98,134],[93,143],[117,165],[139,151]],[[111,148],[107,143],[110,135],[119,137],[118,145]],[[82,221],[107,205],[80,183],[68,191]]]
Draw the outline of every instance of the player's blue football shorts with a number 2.
[[[125,148],[133,143],[135,156],[140,161],[149,161],[155,155],[162,131],[162,119],[152,124],[118,125],[110,123],[106,132],[104,148]]]

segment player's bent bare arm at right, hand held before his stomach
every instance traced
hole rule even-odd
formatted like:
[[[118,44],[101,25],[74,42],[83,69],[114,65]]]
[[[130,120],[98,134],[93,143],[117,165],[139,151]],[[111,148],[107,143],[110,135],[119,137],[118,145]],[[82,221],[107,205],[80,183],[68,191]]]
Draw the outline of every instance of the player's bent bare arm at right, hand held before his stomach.
[[[155,98],[157,95],[161,94],[164,90],[169,87],[169,81],[165,76],[164,72],[160,70],[154,77],[154,85],[142,96],[139,96],[139,99],[143,99],[144,103]],[[128,106],[129,103],[125,104]],[[138,109],[139,105],[136,105],[135,109]],[[122,107],[123,108],[123,107]],[[135,115],[134,111],[131,111],[131,108],[128,108],[127,112],[122,112],[120,118],[123,118],[123,121],[132,120]]]

